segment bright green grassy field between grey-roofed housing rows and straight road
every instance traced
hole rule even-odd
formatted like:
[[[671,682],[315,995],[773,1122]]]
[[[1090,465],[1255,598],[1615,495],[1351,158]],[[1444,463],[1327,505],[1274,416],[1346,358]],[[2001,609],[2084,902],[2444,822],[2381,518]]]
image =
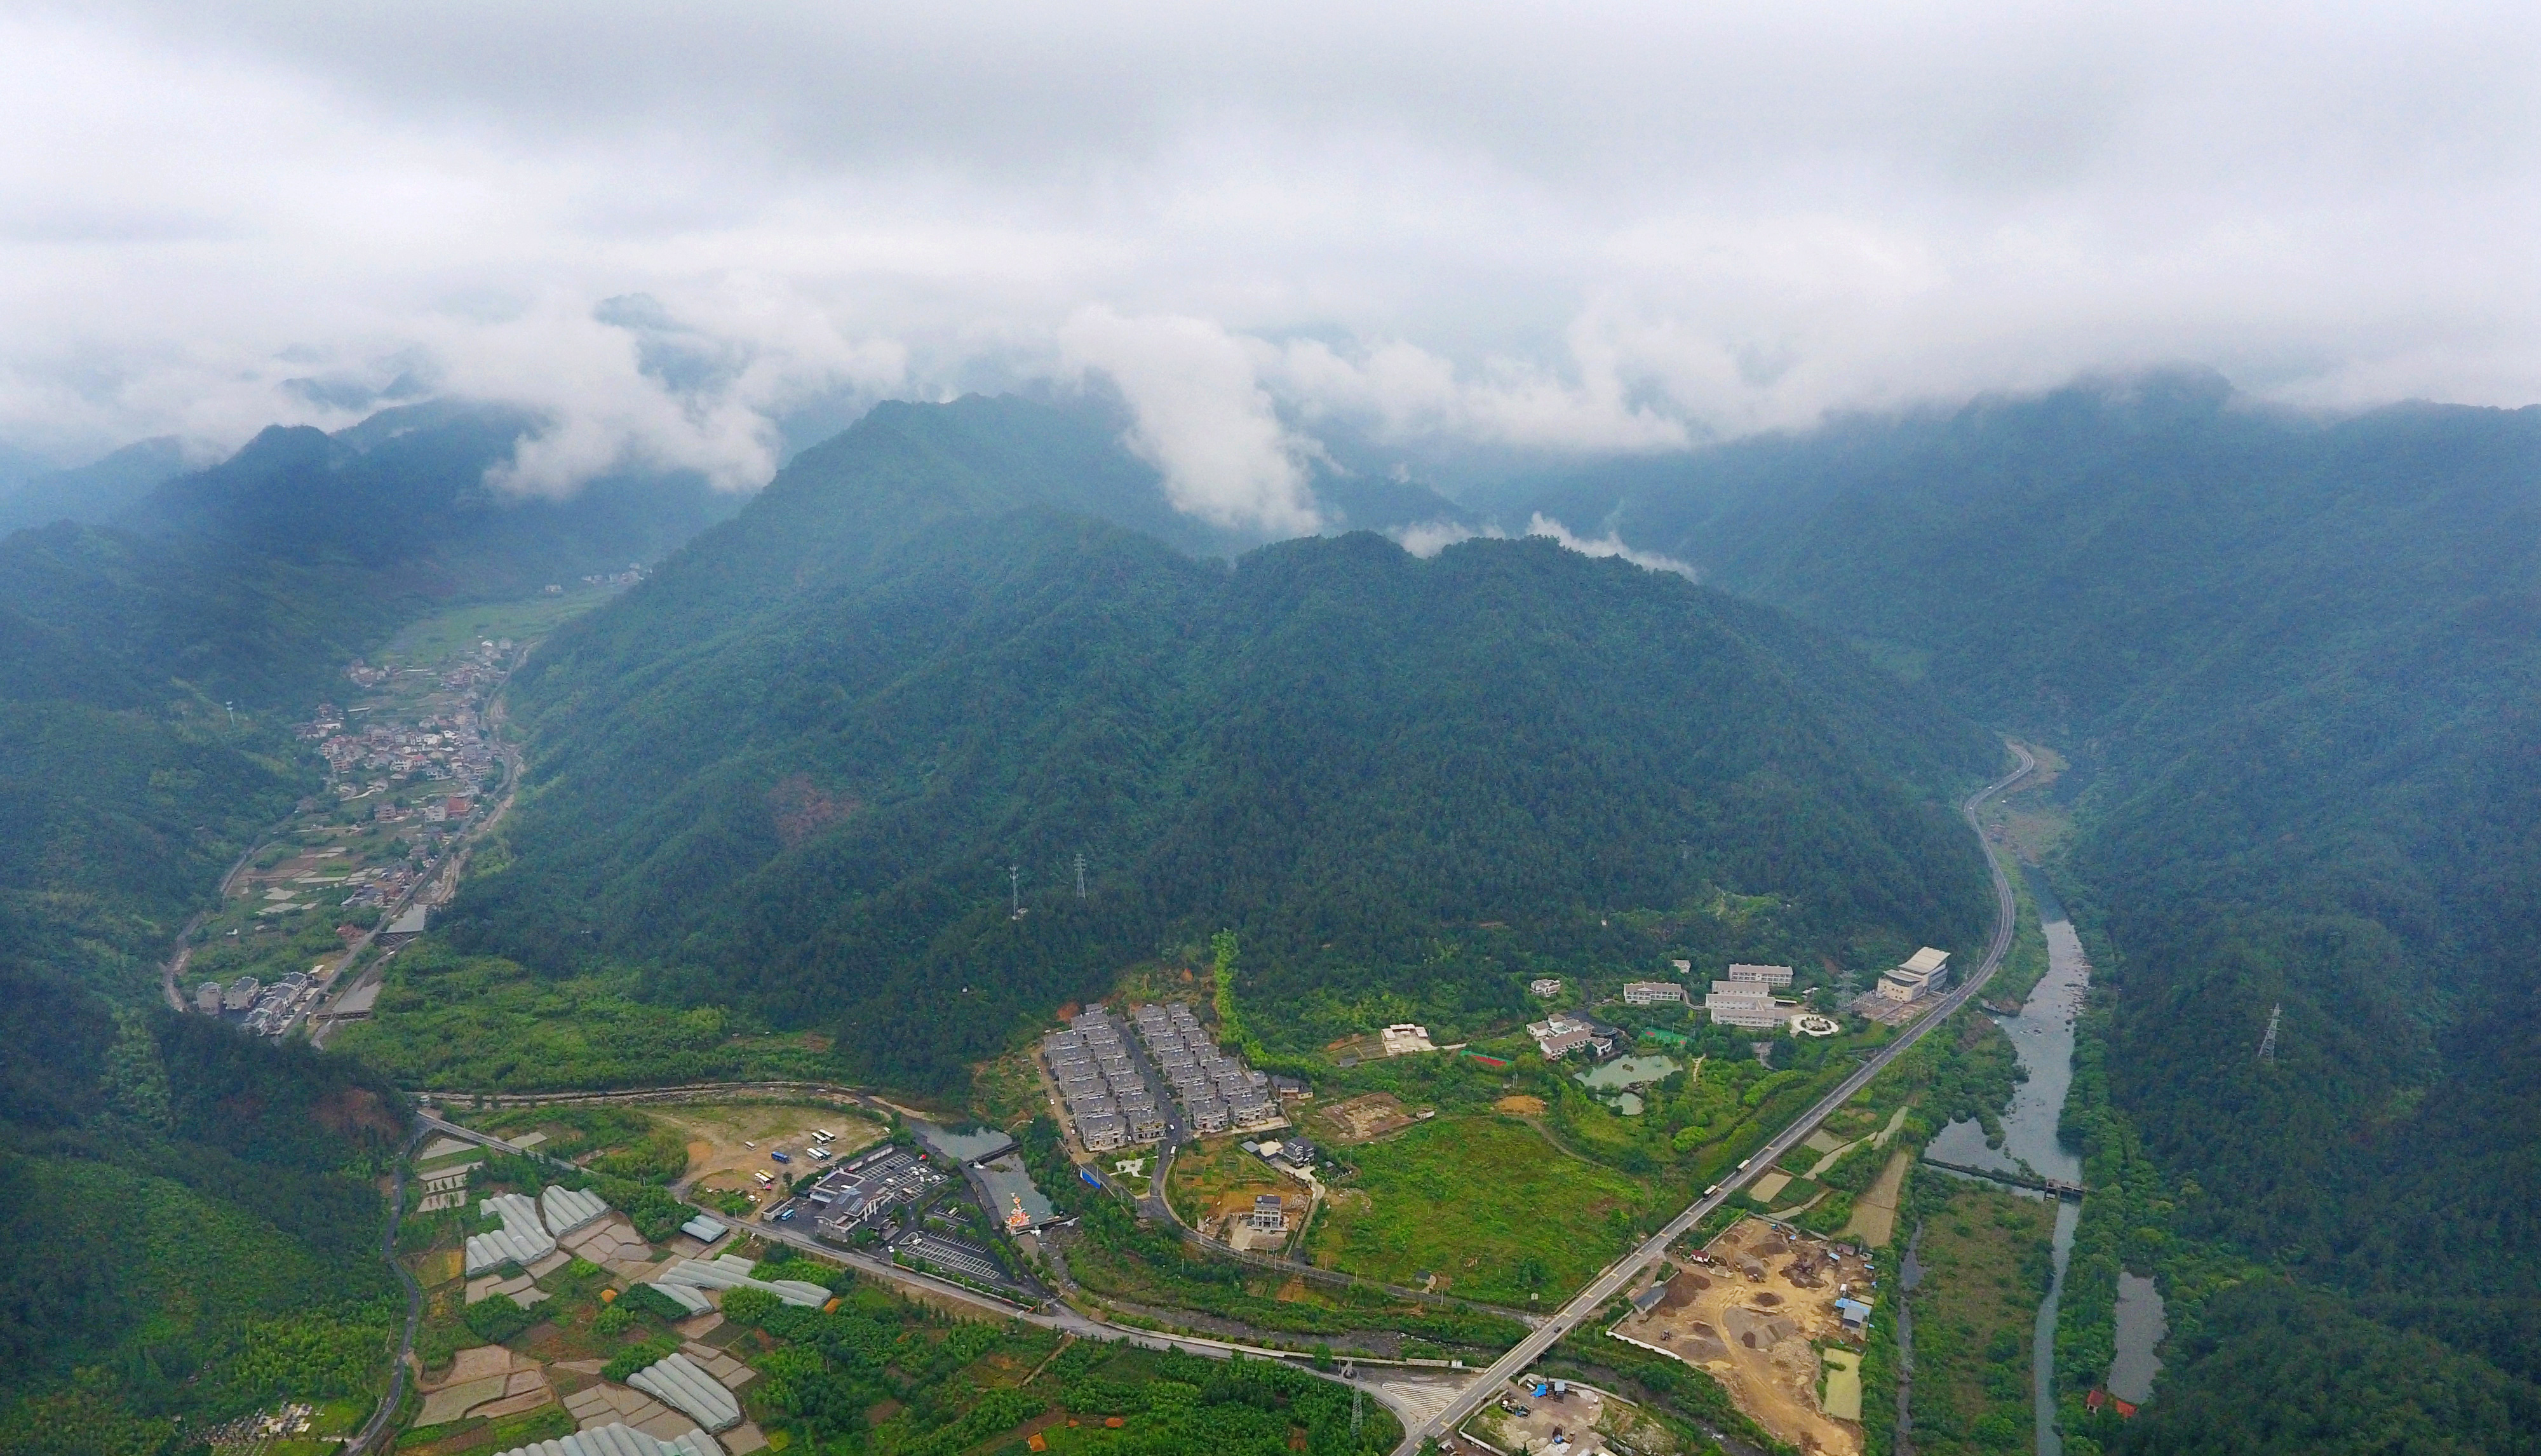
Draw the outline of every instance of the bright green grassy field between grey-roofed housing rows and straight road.
[[[1517,1118],[1443,1116],[1349,1151],[1309,1235],[1314,1263],[1499,1304],[1558,1301],[1631,1240],[1649,1194]]]

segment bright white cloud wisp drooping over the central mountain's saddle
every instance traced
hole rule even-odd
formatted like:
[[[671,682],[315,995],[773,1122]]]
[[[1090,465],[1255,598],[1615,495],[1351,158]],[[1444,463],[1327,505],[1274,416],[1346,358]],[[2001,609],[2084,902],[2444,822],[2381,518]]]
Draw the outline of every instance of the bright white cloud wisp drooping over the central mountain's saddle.
[[[1321,526],[1293,437],[1253,376],[1243,340],[1202,318],[1121,318],[1088,307],[1060,328],[1062,358],[1121,386],[1128,445],[1164,470],[1174,506],[1202,521],[1306,536]]]

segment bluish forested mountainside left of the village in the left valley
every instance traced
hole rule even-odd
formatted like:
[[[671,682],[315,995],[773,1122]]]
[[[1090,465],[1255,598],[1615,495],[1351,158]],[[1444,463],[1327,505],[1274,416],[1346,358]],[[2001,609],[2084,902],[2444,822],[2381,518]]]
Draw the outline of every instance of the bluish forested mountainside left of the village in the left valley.
[[[625,569],[732,508],[696,480],[490,498],[534,424],[417,404],[277,427],[112,523],[0,541],[0,907],[56,966],[147,994],[221,866],[310,788],[280,724],[396,625]]]

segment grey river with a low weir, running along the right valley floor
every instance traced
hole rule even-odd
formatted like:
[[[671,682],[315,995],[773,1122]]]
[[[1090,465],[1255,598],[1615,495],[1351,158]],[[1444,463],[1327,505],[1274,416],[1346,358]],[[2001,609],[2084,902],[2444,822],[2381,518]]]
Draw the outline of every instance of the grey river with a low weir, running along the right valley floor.
[[[2048,1179],[2079,1184],[2081,1159],[2058,1136],[2066,1090],[2073,1085],[2073,1016],[2091,988],[2091,963],[2081,953],[2081,938],[2066,920],[2063,905],[2033,874],[2030,892],[2038,897],[2038,915],[2048,940],[2048,973],[2030,991],[2018,1016],[1995,1016],[1995,1024],[2012,1037],[2025,1082],[2012,1093],[2012,1105],[2002,1113],[2002,1149],[1985,1141],[1979,1123],[1951,1123],[1924,1149],[1926,1156],[1964,1164],[1972,1169],[2035,1171]],[[2048,1296],[2038,1306],[2038,1326],[2030,1331],[2033,1418],[2038,1428],[2038,1456],[2063,1456],[2056,1436],[2056,1304],[2063,1296],[2066,1260],[2073,1258],[2073,1225],[2081,1222],[2081,1204],[2056,1204],[2056,1276]],[[2124,1400],[2142,1400],[2152,1387],[2152,1347],[2162,1337],[2162,1296],[2152,1281],[2127,1276],[2119,1281],[2119,1354],[2112,1387]],[[2132,1390],[2132,1392],[2129,1392]]]

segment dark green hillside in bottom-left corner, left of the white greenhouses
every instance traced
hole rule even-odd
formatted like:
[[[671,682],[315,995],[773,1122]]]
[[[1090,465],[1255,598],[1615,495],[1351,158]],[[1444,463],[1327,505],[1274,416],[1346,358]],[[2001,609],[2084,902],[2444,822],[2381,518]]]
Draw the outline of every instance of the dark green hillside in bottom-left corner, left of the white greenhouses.
[[[0,1448],[180,1451],[277,1377],[356,1395],[399,1309],[371,1187],[396,1093],[343,1057],[109,1011],[41,950],[0,933]]]

